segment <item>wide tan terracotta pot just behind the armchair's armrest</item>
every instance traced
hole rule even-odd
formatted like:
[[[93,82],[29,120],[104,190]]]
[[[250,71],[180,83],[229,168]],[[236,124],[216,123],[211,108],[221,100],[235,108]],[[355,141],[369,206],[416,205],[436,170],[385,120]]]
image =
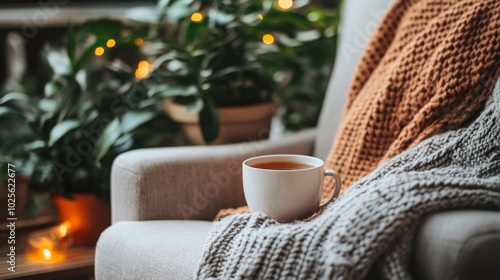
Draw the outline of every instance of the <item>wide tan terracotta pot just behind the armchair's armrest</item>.
[[[165,100],[164,107],[172,120],[181,124],[182,131],[188,141],[195,145],[216,145],[265,139],[269,135],[271,119],[276,110],[274,102],[218,108],[219,135],[214,141],[206,143],[200,129],[198,114],[188,112],[187,106],[174,103],[170,99]]]

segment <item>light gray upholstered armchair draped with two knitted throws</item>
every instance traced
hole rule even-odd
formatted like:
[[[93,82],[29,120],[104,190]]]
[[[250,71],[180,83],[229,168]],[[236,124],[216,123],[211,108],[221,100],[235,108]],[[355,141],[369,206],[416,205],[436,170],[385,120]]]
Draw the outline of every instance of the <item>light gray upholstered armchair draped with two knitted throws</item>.
[[[213,147],[144,149],[113,166],[113,225],[96,248],[96,279],[190,279],[211,219],[245,204],[241,162],[272,153],[325,158],[359,54],[390,1],[344,1],[338,55],[320,123],[283,139]],[[414,243],[416,279],[500,279],[500,212],[429,216]]]

